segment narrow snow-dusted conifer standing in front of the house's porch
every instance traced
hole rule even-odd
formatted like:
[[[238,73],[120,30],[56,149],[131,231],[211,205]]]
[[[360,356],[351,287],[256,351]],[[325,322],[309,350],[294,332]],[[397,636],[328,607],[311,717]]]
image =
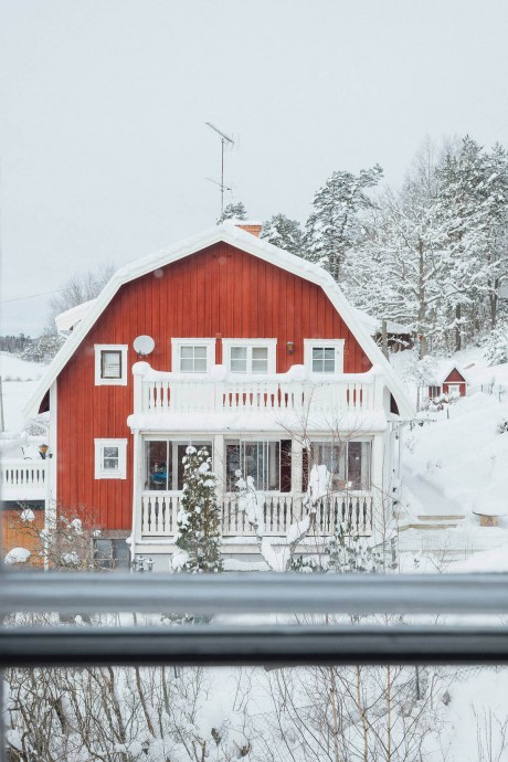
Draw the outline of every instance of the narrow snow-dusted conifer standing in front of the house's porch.
[[[179,567],[189,572],[223,570],[221,515],[216,500],[216,476],[205,447],[189,446],[183,463],[183,494],[178,514]]]

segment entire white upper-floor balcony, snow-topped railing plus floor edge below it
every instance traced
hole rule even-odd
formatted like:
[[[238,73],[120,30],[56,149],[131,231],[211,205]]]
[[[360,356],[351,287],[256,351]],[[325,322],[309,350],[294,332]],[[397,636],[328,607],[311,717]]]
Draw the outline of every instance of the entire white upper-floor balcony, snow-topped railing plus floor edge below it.
[[[382,430],[387,423],[383,378],[375,368],[324,379],[304,366],[261,377],[229,373],[223,366],[203,374],[169,373],[138,362],[133,372],[134,415],[128,422],[135,428],[301,428],[305,420],[315,427],[329,428],[340,421],[341,428]]]

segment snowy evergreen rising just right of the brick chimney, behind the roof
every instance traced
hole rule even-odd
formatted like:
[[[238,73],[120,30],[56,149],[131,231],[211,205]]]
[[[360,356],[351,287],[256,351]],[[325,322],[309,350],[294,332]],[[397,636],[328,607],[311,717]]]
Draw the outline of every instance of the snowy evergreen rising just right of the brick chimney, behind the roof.
[[[358,176],[336,171],[314,197],[305,226],[306,258],[321,264],[339,282],[348,254],[363,240],[360,213],[372,207],[366,191],[378,184],[379,165]]]

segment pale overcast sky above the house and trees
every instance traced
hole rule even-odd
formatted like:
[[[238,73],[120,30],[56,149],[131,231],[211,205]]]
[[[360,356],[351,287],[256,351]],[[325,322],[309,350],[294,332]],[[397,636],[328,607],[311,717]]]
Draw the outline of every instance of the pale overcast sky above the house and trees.
[[[337,169],[399,183],[426,135],[508,147],[506,0],[0,0],[1,334],[75,272],[210,225],[305,222]],[[12,299],[17,299],[13,301]]]

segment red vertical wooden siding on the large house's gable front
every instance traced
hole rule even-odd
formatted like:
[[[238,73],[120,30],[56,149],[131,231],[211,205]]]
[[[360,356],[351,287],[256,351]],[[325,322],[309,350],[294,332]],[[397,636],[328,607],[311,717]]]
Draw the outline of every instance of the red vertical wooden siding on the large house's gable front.
[[[131,366],[136,336],[156,341],[149,362],[171,370],[172,337],[276,338],[277,372],[304,362],[304,339],[341,338],[345,372],[371,362],[319,286],[272,264],[215,244],[120,288],[57,382],[57,494],[62,506],[91,508],[100,526],[130,529]],[[286,341],[295,342],[293,354]],[[128,385],[96,387],[94,345],[128,345]],[[215,361],[222,361],[218,342]],[[127,479],[94,478],[94,438],[127,438]]]

